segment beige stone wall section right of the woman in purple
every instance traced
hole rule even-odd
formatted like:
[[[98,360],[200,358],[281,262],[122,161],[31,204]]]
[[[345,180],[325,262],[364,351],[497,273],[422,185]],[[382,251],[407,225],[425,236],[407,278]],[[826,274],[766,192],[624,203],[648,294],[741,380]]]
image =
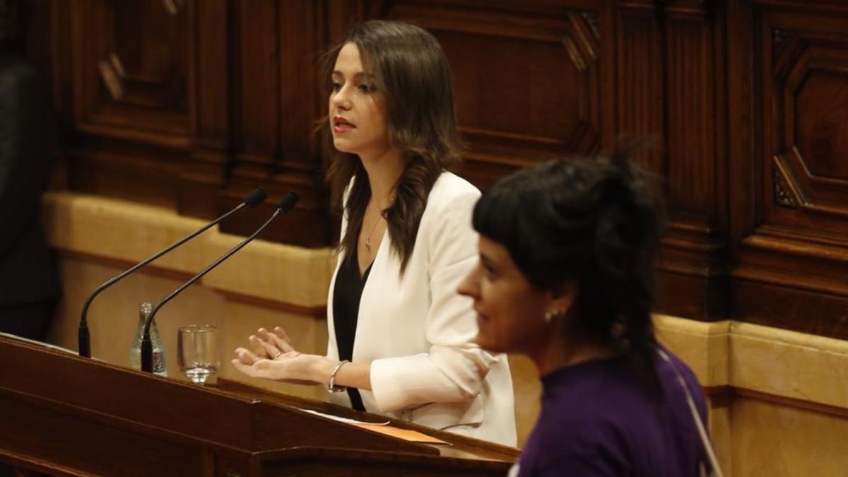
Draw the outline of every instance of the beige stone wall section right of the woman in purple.
[[[725,474],[848,475],[848,342],[732,321],[659,316],[656,328],[717,391]]]

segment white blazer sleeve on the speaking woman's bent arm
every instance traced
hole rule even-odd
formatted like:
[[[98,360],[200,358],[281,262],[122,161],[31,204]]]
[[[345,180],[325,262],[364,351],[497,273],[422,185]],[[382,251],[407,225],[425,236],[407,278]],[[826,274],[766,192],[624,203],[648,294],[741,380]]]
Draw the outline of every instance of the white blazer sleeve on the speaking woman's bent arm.
[[[431,305],[426,338],[430,349],[371,362],[371,392],[381,412],[427,402],[470,401],[480,393],[488,369],[498,361],[471,343],[477,336],[472,302],[456,291],[477,264],[471,210],[478,197],[475,189],[443,204],[428,224],[427,243],[416,244],[427,246]]]

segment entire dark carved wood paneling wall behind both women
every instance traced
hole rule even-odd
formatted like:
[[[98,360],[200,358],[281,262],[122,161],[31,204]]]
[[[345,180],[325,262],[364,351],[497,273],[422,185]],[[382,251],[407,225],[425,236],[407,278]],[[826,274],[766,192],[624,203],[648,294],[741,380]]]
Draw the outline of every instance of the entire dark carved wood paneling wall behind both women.
[[[661,311],[848,338],[848,7],[839,0],[38,0],[32,56],[68,187],[213,217],[263,186],[268,233],[332,244],[316,63],[350,21],[426,27],[488,187],[650,137],[669,225]],[[226,222],[249,233],[270,212]]]

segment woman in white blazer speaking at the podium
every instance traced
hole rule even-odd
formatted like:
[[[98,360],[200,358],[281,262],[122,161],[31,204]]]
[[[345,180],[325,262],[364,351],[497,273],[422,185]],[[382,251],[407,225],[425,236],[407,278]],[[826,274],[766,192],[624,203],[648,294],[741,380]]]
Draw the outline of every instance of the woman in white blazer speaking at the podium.
[[[327,353],[298,353],[282,328],[259,329],[233,365],[514,446],[506,356],[471,343],[471,300],[456,293],[477,261],[480,193],[447,171],[458,159],[448,61],[427,31],[380,20],[354,25],[327,59],[329,182],[343,204]]]

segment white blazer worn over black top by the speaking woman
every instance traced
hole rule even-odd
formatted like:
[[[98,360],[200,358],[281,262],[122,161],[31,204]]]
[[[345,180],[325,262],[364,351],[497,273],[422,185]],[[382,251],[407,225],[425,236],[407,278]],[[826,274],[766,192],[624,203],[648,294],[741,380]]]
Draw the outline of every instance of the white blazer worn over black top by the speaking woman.
[[[416,246],[400,276],[400,258],[385,233],[362,290],[354,362],[371,362],[371,391],[360,390],[365,409],[477,439],[516,445],[512,378],[505,355],[471,343],[477,320],[470,298],[456,292],[477,264],[471,210],[480,192],[444,172],[421,216]],[[343,217],[342,234],[347,227]],[[327,357],[338,359],[327,299]],[[347,393],[331,401],[350,407]]]

